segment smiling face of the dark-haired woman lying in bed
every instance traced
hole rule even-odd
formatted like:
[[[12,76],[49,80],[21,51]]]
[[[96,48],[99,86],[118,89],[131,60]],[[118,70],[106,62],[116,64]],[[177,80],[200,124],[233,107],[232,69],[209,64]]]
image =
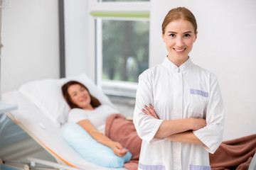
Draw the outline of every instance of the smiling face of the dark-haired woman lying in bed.
[[[71,98],[71,101],[75,103],[78,107],[85,110],[93,109],[90,104],[90,94],[84,87],[80,86],[79,84],[73,84],[68,87],[68,94]]]

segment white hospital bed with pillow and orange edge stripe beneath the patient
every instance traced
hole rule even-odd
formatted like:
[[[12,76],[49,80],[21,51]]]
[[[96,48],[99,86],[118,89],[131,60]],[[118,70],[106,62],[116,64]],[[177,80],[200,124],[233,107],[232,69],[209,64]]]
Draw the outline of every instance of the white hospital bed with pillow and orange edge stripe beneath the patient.
[[[61,94],[61,86],[69,80],[82,82],[93,96],[100,99],[101,103],[113,106],[109,98],[97,89],[97,86],[85,74],[63,79],[32,81],[21,86],[18,91],[2,95],[3,101],[18,105],[18,110],[6,113],[6,115],[56,160],[56,162],[48,162],[28,157],[31,164],[24,164],[23,169],[33,169],[37,164],[54,169],[109,169],[87,162],[60,136],[61,125],[65,123],[70,109]]]

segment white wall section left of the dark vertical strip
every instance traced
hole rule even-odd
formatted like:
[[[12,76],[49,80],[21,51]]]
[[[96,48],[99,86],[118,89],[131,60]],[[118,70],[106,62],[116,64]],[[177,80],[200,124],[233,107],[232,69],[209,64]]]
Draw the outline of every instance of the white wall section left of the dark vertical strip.
[[[11,0],[2,11],[1,93],[58,78],[58,0]]]

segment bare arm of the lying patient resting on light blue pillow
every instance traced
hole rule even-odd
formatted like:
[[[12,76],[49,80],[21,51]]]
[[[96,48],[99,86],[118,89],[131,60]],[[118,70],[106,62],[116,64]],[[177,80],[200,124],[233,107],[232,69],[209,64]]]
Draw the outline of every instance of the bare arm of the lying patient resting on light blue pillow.
[[[98,132],[92,123],[90,123],[90,120],[81,120],[78,122],[78,125],[82,126],[82,128],[84,128],[95,140],[97,140],[97,142],[100,142],[101,144],[113,149],[114,154],[117,154],[117,156],[123,157],[129,151],[128,149],[124,150],[119,142],[114,142],[101,132]]]

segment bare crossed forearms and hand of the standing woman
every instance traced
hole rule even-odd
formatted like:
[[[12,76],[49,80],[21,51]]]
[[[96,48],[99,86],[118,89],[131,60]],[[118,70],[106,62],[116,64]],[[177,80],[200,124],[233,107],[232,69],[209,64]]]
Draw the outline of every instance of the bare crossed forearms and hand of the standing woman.
[[[153,106],[144,106],[142,111],[146,115],[150,115],[156,119],[159,119]],[[155,138],[167,137],[167,140],[174,142],[183,142],[190,144],[203,145],[203,142],[193,134],[192,130],[198,130],[206,126],[206,120],[203,118],[184,118],[178,120],[164,120],[161,123],[159,130],[157,130]]]

